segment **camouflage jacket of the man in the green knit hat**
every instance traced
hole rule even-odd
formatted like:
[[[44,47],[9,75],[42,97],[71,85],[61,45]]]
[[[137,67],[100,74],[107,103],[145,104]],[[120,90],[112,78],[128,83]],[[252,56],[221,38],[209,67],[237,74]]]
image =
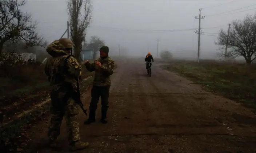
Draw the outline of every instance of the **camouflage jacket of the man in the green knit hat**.
[[[105,59],[97,59],[96,61],[99,61],[101,63],[101,67],[97,67],[95,65],[95,62],[85,63],[85,67],[88,69],[88,71],[93,72],[95,71],[95,76],[93,80],[94,86],[110,86],[111,80],[110,76],[113,74],[113,68],[114,68],[114,61],[107,57]]]

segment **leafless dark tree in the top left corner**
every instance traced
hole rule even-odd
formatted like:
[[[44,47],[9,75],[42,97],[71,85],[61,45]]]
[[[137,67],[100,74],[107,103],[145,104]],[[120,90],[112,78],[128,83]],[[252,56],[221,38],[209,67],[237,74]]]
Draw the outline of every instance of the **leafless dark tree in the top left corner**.
[[[0,53],[4,43],[22,39],[27,47],[44,45],[43,38],[36,33],[36,22],[30,14],[23,13],[21,7],[25,1],[0,1]]]

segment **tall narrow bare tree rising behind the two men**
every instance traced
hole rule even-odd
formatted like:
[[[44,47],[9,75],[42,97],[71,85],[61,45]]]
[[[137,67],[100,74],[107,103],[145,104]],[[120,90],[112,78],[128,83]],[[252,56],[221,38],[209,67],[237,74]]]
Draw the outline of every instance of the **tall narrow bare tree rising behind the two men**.
[[[86,29],[92,21],[92,1],[69,0],[67,6],[75,57],[80,61],[81,46],[85,41]]]

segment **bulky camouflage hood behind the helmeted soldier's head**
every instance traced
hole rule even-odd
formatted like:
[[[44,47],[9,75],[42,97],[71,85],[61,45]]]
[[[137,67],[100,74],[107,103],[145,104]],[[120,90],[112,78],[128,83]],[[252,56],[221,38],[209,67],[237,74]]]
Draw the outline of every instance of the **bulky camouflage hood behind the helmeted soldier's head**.
[[[65,52],[65,47],[59,41],[53,41],[51,44],[49,44],[46,51],[51,56],[69,55],[67,52]]]

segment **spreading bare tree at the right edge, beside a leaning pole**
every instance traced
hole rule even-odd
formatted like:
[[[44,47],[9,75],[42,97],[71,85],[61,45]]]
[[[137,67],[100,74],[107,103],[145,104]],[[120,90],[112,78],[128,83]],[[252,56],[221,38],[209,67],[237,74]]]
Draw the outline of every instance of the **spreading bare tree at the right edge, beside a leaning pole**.
[[[227,32],[223,29],[219,32],[218,42],[215,44],[222,46],[223,49],[227,41]],[[256,59],[256,14],[253,16],[247,15],[244,20],[232,21],[228,48],[228,57],[243,56],[247,65],[251,65]],[[219,56],[225,56],[225,52],[221,51]]]

